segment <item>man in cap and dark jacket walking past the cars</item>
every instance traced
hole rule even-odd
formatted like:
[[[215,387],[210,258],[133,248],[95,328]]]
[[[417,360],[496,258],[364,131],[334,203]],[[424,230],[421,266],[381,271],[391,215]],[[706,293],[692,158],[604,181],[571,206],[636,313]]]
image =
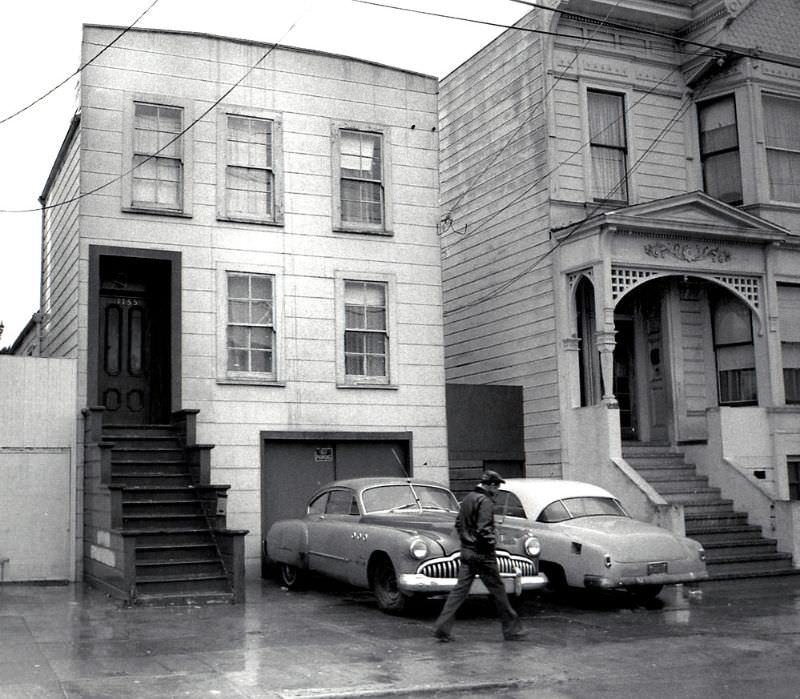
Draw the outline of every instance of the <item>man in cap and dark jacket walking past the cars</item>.
[[[494,496],[501,483],[505,483],[505,480],[499,473],[486,471],[481,476],[480,483],[461,502],[456,518],[456,529],[461,539],[461,568],[458,582],[447,596],[434,626],[433,635],[440,641],[453,640],[450,631],[456,612],[467,599],[476,575],[494,598],[503,625],[503,638],[506,641],[518,641],[527,636],[519,616],[508,601],[495,557],[497,534],[494,524]]]

